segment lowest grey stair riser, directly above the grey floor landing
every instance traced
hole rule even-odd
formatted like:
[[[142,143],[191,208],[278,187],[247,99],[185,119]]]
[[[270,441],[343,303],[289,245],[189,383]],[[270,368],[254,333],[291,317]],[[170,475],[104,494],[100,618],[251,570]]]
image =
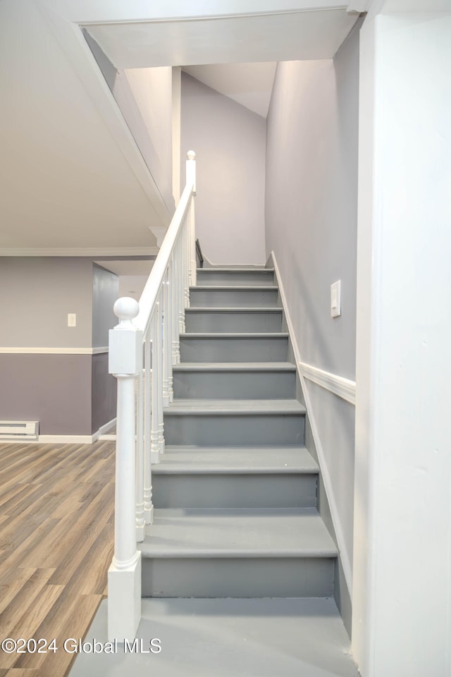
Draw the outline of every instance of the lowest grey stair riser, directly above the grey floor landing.
[[[143,597],[330,597],[330,558],[142,560]]]

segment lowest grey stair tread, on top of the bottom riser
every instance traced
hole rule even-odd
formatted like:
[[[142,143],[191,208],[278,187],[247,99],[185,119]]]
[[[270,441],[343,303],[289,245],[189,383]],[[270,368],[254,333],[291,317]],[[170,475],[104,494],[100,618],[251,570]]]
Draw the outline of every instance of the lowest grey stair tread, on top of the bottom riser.
[[[316,508],[156,508],[140,544],[146,557],[335,557]]]

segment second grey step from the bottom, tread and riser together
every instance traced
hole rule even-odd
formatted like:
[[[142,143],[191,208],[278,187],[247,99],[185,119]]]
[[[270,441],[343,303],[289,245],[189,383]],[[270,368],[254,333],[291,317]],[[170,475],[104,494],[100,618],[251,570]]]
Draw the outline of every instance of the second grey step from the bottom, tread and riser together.
[[[305,447],[168,447],[152,468],[156,508],[316,506],[318,466]]]

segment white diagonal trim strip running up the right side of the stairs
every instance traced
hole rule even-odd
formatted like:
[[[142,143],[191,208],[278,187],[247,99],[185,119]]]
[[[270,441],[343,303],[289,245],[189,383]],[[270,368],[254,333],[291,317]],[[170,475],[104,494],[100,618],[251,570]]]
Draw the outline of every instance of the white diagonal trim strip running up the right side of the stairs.
[[[311,425],[311,434],[313,435],[314,443],[316,446],[316,453],[318,454],[318,461],[319,461],[319,468],[321,470],[321,476],[323,477],[323,484],[324,484],[324,489],[326,491],[326,496],[328,499],[328,504],[330,508],[330,515],[332,517],[332,523],[333,527],[335,529],[335,536],[337,537],[337,546],[338,546],[338,551],[340,552],[340,559],[342,563],[342,568],[343,568],[343,575],[345,576],[346,580],[346,585],[347,589],[350,593],[350,597],[352,600],[352,566],[351,566],[351,559],[350,559],[350,554],[347,551],[347,547],[345,544],[345,536],[344,536],[344,531],[342,527],[342,523],[340,520],[340,516],[338,515],[338,508],[337,508],[337,502],[335,501],[335,494],[333,493],[333,484],[332,480],[330,479],[330,474],[328,472],[328,467],[326,463],[326,455],[323,450],[323,445],[321,444],[321,438],[319,437],[319,430],[318,426],[316,425],[316,419],[314,417],[314,412],[313,412],[313,407],[311,405],[311,400],[309,396],[309,391],[307,389],[307,384],[305,383],[304,379],[304,374],[302,373],[302,370],[300,368],[300,365],[304,364],[301,359],[301,355],[299,352],[299,346],[297,345],[297,340],[295,336],[295,329],[293,327],[291,317],[290,317],[290,312],[288,310],[288,303],[287,303],[287,297],[285,295],[285,290],[283,288],[283,282],[282,278],[280,276],[280,271],[278,268],[278,264],[276,261],[276,255],[274,252],[271,252],[271,257],[273,260],[273,267],[274,267],[274,272],[276,274],[276,279],[278,281],[278,288],[279,288],[279,293],[280,293],[280,300],[282,301],[282,307],[283,307],[283,312],[285,314],[285,320],[287,322],[287,327],[288,327],[288,334],[290,335],[290,341],[292,344],[292,349],[293,352],[295,353],[295,361],[297,365],[297,374],[299,375],[299,381],[302,386],[302,392],[304,394],[304,399],[305,399],[305,407],[307,409],[307,415],[309,417],[310,425]]]

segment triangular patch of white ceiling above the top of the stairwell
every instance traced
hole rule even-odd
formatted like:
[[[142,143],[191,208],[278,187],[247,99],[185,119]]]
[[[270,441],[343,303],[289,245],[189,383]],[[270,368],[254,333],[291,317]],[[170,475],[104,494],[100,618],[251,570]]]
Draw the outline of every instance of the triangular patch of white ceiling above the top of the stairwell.
[[[275,61],[216,63],[209,66],[184,66],[183,71],[266,118],[276,66]]]

